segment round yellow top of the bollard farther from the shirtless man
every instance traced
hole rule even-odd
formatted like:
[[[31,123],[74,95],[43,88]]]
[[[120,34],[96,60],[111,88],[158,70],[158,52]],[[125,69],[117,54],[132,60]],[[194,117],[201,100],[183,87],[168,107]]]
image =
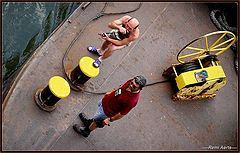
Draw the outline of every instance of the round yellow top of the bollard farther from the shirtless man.
[[[48,86],[50,91],[58,98],[66,98],[70,94],[68,82],[60,76],[52,77],[48,82]]]

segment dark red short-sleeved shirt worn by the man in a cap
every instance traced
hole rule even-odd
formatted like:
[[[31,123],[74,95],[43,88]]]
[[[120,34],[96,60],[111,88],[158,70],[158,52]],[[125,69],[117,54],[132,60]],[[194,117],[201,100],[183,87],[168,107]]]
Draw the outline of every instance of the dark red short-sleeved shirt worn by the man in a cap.
[[[112,91],[110,94],[106,94],[103,97],[102,105],[103,111],[108,117],[115,116],[119,112],[122,115],[126,115],[133,107],[137,105],[139,100],[139,93],[132,93],[130,91],[126,91],[129,86],[130,80],[128,80],[121,87],[121,94],[115,96],[116,90]]]

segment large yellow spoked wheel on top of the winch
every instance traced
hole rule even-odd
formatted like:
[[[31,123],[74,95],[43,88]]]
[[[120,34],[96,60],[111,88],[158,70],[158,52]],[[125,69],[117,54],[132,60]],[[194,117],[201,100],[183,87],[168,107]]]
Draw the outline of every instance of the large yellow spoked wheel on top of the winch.
[[[225,37],[225,36],[228,37]],[[219,55],[236,41],[236,36],[229,31],[217,31],[199,37],[185,47],[177,55],[180,63],[186,63],[208,55]]]

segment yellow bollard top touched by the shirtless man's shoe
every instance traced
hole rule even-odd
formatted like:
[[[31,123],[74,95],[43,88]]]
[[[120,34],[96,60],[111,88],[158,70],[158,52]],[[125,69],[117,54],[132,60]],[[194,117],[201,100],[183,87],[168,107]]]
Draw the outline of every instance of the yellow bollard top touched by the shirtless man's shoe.
[[[100,69],[93,66],[94,59],[85,56],[79,60],[79,67],[81,71],[88,77],[94,78],[98,76]]]

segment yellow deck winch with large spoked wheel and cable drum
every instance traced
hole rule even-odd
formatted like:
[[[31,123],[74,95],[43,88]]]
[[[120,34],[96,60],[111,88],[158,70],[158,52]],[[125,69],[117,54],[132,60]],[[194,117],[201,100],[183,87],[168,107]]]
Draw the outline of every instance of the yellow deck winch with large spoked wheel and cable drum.
[[[177,64],[163,72],[174,85],[173,100],[213,98],[226,82],[226,75],[217,56],[230,48],[236,36],[217,31],[199,37],[177,54]]]

